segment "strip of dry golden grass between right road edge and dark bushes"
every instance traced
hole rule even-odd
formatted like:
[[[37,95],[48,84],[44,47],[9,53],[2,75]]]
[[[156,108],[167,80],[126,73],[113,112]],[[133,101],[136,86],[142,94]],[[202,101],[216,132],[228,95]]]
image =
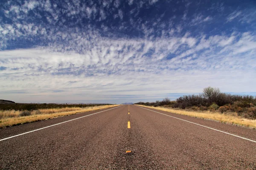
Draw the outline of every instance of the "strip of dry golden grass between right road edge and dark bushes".
[[[181,109],[150,107],[150,106],[144,106],[144,105],[143,105],[143,107],[152,108],[152,109],[156,109],[156,110],[160,110],[160,111],[176,113],[176,114],[192,116],[192,117],[212,119],[212,120],[217,120],[219,122],[225,122],[225,123],[231,123],[231,124],[256,128],[256,120],[244,119],[240,116],[237,116],[237,114],[235,112],[221,114],[221,113],[212,112],[212,111],[200,111],[200,112],[199,111],[184,111]]]

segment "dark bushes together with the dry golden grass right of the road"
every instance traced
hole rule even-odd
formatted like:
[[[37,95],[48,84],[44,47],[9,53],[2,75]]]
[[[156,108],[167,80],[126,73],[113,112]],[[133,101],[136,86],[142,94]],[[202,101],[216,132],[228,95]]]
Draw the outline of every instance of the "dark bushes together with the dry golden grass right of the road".
[[[219,88],[204,88],[199,95],[186,95],[175,101],[169,98],[135,105],[154,107],[162,111],[256,127],[256,97],[221,93]]]

